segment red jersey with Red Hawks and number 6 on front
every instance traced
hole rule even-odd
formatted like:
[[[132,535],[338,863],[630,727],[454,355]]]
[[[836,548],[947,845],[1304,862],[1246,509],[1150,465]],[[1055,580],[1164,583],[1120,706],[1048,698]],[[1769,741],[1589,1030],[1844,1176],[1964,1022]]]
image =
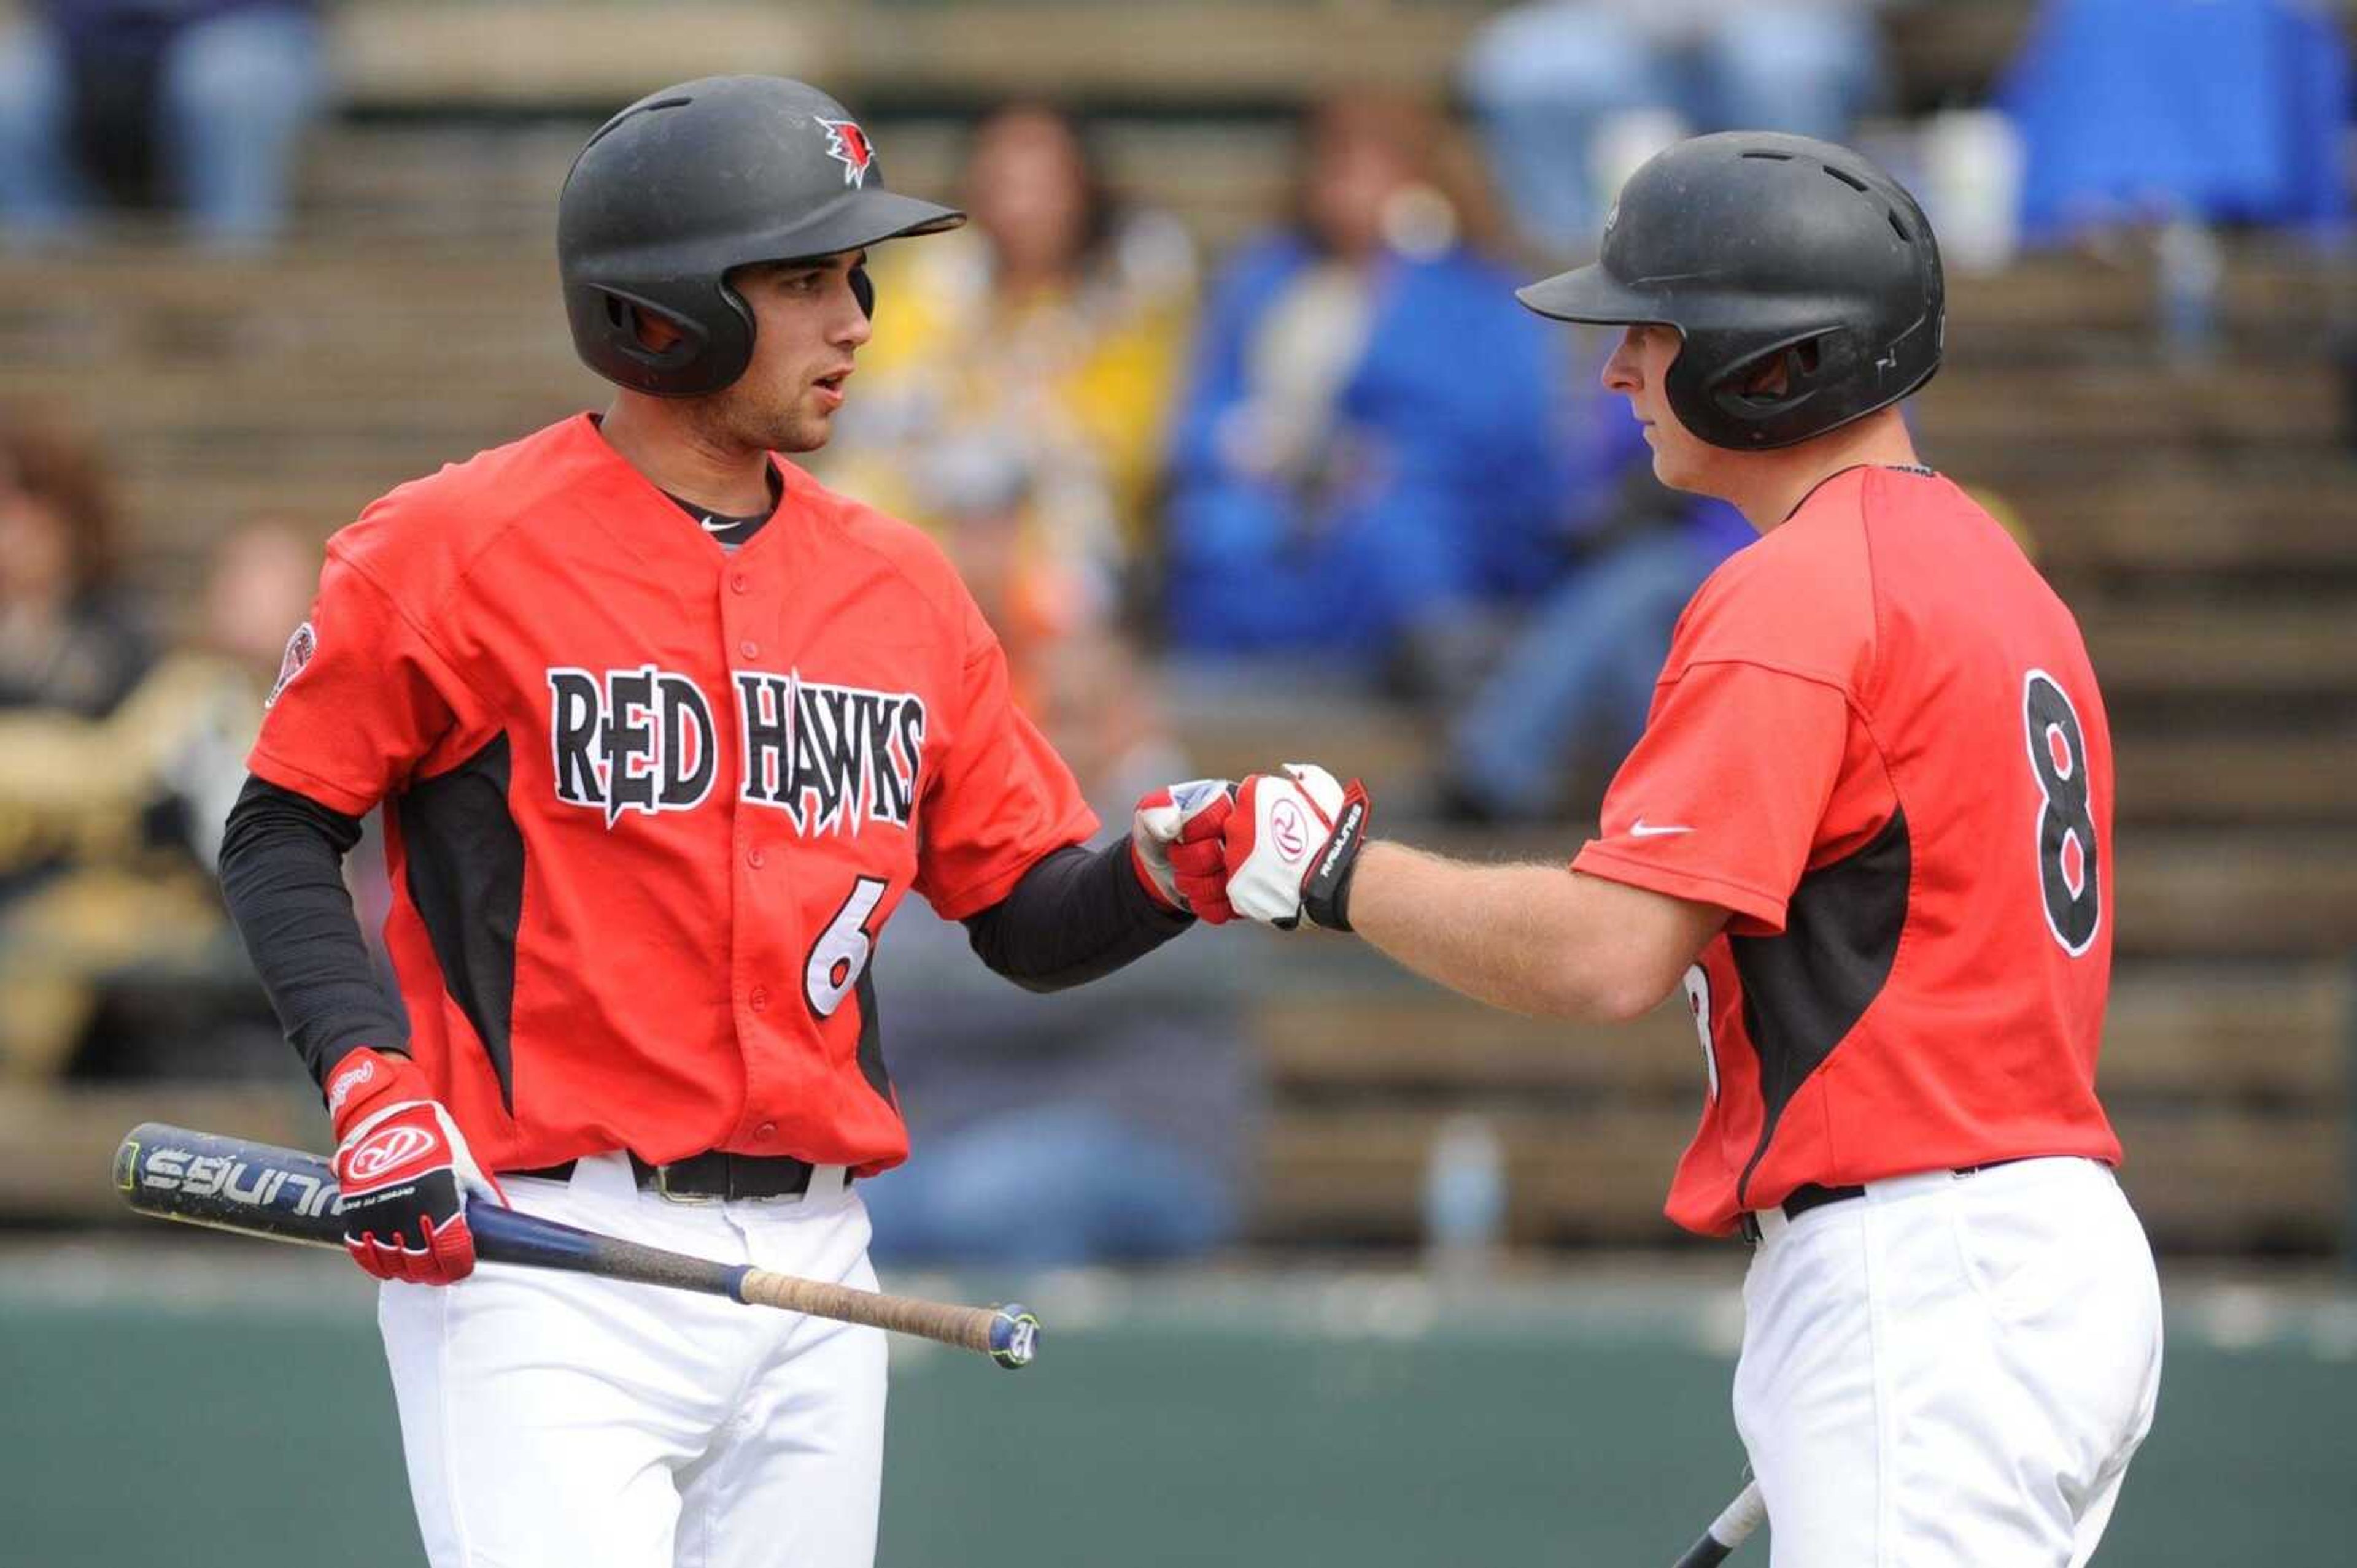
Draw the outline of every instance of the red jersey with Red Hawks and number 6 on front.
[[[328,544],[250,765],[384,803],[410,1052],[488,1170],[900,1161],[877,932],[1096,831],[940,551],[778,473],[731,556],[580,414]]]

